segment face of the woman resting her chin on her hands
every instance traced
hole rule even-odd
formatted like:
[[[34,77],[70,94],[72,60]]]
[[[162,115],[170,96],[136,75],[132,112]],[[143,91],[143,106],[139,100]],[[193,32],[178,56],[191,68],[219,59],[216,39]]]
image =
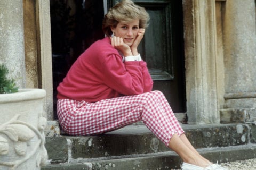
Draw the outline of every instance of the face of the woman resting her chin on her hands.
[[[111,30],[115,36],[123,38],[125,44],[131,46],[139,31],[139,19],[134,19],[131,22],[119,22],[116,28],[111,27]]]

